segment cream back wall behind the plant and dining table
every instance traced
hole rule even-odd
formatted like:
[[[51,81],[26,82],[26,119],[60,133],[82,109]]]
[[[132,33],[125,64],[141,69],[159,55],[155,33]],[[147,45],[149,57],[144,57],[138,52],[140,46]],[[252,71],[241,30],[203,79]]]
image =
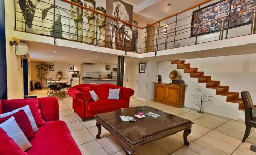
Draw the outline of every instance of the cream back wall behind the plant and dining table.
[[[40,80],[36,77],[36,70],[35,70],[35,66],[37,64],[39,64],[40,62],[35,62],[32,61],[30,62],[31,64],[31,80],[34,81],[34,83],[36,82],[40,82]],[[46,62],[42,62],[42,63],[46,63]],[[54,64],[54,71],[49,71],[47,78],[52,78],[55,79],[56,74],[58,74],[58,71],[63,72],[63,78],[68,78],[68,80],[71,78],[71,73],[74,72],[69,72],[69,64],[74,65],[74,71],[79,71],[79,73],[81,73],[81,64],[80,63],[66,63],[66,62],[47,62],[47,64]],[[81,75],[80,75],[81,76]],[[46,83],[43,82],[42,84],[43,87],[46,87]]]

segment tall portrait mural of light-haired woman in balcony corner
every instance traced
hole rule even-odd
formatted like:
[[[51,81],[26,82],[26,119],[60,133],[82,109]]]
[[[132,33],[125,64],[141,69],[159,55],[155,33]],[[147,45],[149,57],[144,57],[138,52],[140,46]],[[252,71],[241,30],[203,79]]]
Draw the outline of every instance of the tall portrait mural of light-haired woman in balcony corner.
[[[117,19],[132,24],[133,6],[123,1],[108,0],[106,13]],[[106,19],[106,47],[131,51],[132,46],[132,26],[122,22],[107,18]]]

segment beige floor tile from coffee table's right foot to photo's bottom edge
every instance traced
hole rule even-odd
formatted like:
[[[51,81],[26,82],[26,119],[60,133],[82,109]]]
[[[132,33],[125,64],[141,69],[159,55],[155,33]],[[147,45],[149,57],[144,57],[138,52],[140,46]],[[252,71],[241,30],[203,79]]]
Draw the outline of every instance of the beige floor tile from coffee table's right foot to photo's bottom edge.
[[[186,147],[190,148],[195,152],[198,152],[199,154],[207,154],[207,155],[228,154],[214,147],[206,145],[198,140],[191,142],[190,145]]]

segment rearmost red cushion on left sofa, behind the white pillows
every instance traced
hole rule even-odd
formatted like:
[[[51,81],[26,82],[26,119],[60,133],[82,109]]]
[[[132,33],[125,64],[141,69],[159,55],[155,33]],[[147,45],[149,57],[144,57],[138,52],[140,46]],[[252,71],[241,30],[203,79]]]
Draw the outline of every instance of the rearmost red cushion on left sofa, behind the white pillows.
[[[24,99],[24,100],[2,100],[2,110],[3,113],[11,112],[15,109],[29,105],[31,113],[35,119],[36,125],[41,126],[45,124],[45,121],[42,119],[41,110],[39,107],[39,101],[37,98],[34,99]]]

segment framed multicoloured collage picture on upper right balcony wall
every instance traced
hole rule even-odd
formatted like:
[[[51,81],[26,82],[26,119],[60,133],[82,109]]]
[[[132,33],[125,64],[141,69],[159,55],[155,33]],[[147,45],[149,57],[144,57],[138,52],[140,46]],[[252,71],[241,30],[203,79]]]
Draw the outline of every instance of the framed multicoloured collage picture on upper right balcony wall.
[[[229,28],[250,24],[252,10],[249,8],[256,6],[256,0],[233,0],[231,2]],[[198,31],[197,27],[191,28],[191,37],[219,31],[222,19],[225,20],[224,24],[227,28],[229,9],[230,1],[222,0],[201,8],[200,13],[199,10],[193,11],[192,26],[196,26],[198,21],[199,28]],[[220,18],[223,16],[225,17]],[[210,21],[206,22],[208,20]]]

